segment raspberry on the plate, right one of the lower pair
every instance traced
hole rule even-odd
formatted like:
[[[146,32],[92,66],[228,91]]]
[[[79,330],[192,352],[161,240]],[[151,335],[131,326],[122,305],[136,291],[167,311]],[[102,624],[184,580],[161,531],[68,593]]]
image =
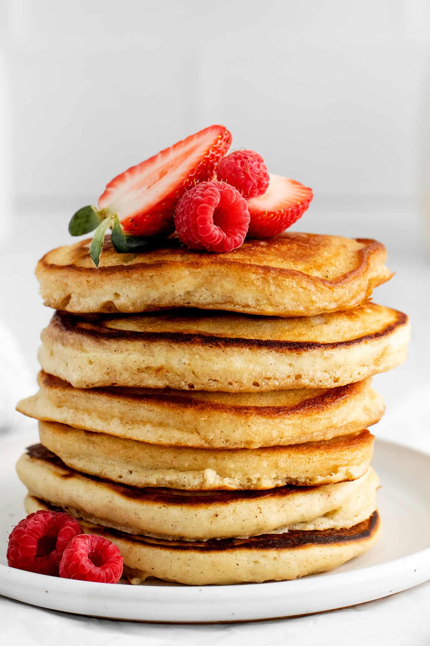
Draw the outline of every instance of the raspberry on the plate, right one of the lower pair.
[[[79,534],[65,549],[59,566],[63,579],[118,583],[123,573],[119,549],[103,536]]]

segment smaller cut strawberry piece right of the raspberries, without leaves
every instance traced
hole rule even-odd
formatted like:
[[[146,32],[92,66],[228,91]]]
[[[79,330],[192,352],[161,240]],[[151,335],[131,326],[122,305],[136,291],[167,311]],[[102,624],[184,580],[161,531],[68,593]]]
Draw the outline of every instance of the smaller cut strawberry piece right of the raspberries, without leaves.
[[[311,203],[312,189],[281,175],[270,175],[263,195],[247,200],[251,222],[247,238],[272,238],[291,227]]]

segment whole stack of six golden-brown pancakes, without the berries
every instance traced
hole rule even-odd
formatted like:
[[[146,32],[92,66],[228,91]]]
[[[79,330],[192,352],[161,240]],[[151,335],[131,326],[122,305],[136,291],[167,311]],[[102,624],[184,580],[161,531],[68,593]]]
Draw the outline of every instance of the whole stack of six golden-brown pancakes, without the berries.
[[[118,545],[132,583],[292,579],[370,548],[380,521],[371,376],[406,357],[407,317],[367,300],[373,240],[287,233],[232,253],[88,240],[37,266],[40,444],[26,509]]]

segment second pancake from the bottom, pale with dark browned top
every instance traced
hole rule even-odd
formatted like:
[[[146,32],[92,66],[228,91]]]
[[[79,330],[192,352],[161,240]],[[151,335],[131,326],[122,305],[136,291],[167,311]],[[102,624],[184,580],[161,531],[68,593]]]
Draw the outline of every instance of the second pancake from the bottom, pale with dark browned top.
[[[370,468],[351,482],[268,491],[136,488],[80,474],[41,444],[21,456],[17,473],[31,495],[78,519],[131,534],[181,540],[351,527],[376,509],[379,483]]]

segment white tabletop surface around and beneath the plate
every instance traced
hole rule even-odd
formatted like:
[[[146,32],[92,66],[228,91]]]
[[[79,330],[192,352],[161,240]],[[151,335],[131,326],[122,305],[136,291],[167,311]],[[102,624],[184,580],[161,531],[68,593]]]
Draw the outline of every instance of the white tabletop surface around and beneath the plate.
[[[343,207],[349,205],[349,211]],[[79,204],[78,204],[79,206]],[[411,205],[384,203],[365,215],[361,206],[351,209],[339,201],[329,207],[316,204],[316,209],[298,230],[342,233],[381,239],[389,250],[389,267],[396,276],[374,293],[377,302],[407,312],[413,323],[413,340],[409,359],[391,373],[378,375],[374,385],[384,395],[387,412],[373,430],[386,437],[430,453],[430,428],[427,401],[430,397],[428,366],[430,364],[430,267],[423,243],[420,221]],[[406,211],[405,211],[406,209]],[[405,213],[407,213],[405,215]],[[358,215],[360,217],[358,217]],[[0,271],[3,276],[3,298],[6,305],[0,314],[0,325],[12,330],[8,340],[9,354],[2,352],[0,387],[9,390],[3,419],[8,428],[0,431],[3,439],[22,432],[25,419],[13,412],[14,399],[30,394],[36,375],[36,348],[41,328],[48,322],[50,311],[41,305],[33,271],[37,258],[47,249],[68,244],[67,214],[20,214],[12,221],[8,244],[0,242]],[[406,224],[405,224],[406,223]],[[365,226],[364,226],[365,225]],[[26,235],[23,236],[23,231]],[[43,233],[42,233],[43,232]],[[14,351],[10,352],[13,344]],[[1,350],[1,348],[0,348]],[[21,353],[23,366],[19,379],[10,383],[14,353]],[[12,359],[11,359],[12,357]],[[8,364],[9,362],[9,364]],[[33,390],[36,390],[35,386]],[[3,400],[5,401],[5,399]],[[0,399],[1,407],[1,399]],[[31,422],[30,422],[31,423]],[[0,425],[1,428],[1,425]],[[28,429],[28,426],[26,426]],[[36,435],[36,430],[35,430]],[[413,477],[413,474],[405,474]],[[7,495],[3,492],[3,495]],[[30,607],[11,599],[0,598],[0,634],[2,643],[28,643],[62,646],[90,643],[91,646],[137,643],[146,646],[163,644],[194,645],[204,643],[230,645],[243,642],[278,645],[296,638],[300,646],[349,645],[430,645],[430,582],[389,598],[319,615],[287,620],[262,621],[249,624],[220,625],[156,625],[126,621],[87,618]]]

